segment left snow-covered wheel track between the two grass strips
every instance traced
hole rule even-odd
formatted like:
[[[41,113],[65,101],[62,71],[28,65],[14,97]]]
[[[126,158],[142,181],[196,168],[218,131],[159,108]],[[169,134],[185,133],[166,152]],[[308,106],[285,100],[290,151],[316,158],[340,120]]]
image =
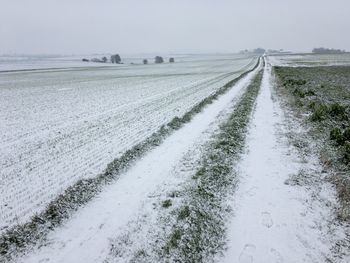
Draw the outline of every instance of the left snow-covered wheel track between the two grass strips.
[[[232,100],[242,94],[256,72],[241,79],[117,182],[106,187],[67,224],[50,233],[46,246],[18,262],[102,262],[108,256],[110,238],[128,228],[128,222],[137,217],[142,202],[169,180],[174,166],[203,139],[203,133],[231,106]]]

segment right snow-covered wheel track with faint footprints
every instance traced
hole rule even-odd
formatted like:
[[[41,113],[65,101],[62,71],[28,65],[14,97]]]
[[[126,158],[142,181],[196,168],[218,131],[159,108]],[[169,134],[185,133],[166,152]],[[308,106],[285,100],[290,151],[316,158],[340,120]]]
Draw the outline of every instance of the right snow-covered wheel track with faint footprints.
[[[228,250],[219,262],[325,262],[333,212],[313,201],[306,188],[285,183],[302,169],[317,170],[318,164],[311,157],[301,162],[281,138],[283,114],[271,97],[270,71],[267,66],[239,165]],[[323,198],[334,202],[334,191],[327,183],[324,187]]]

